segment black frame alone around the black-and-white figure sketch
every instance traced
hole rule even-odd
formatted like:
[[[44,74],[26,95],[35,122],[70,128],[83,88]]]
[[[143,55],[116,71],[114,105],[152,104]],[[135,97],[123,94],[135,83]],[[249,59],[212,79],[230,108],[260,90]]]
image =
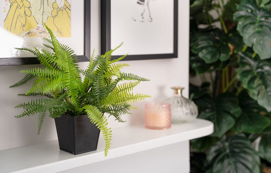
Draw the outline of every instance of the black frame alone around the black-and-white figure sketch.
[[[124,60],[161,59],[178,57],[178,0],[174,0],[173,53],[127,55]],[[101,53],[111,49],[111,0],[101,0]],[[112,56],[112,59],[119,58]]]

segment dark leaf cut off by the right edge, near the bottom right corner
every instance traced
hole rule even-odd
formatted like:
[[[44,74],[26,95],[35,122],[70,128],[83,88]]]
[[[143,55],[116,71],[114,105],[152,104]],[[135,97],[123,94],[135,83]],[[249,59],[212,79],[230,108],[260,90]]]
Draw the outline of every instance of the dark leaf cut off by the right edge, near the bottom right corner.
[[[260,157],[266,159],[271,163],[271,134],[267,134],[261,137],[259,144]]]

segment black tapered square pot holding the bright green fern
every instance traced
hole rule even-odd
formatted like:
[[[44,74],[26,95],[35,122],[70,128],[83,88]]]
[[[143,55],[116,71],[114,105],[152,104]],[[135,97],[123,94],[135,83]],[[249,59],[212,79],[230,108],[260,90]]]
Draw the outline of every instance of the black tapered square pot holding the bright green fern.
[[[87,115],[61,115],[54,119],[59,149],[74,155],[97,150],[100,130]]]

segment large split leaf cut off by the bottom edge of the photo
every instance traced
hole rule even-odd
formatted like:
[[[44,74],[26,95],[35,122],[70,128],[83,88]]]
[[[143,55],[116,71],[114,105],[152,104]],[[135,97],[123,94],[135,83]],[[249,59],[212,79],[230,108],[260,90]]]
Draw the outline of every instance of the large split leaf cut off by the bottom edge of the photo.
[[[260,158],[251,142],[242,134],[218,142],[210,148],[207,160],[213,173],[259,173]]]

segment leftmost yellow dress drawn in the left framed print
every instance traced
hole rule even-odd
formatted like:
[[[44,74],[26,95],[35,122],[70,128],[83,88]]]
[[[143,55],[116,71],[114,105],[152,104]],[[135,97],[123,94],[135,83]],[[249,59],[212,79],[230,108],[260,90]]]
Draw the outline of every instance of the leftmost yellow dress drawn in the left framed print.
[[[31,14],[30,3],[27,0],[10,0],[10,10],[4,20],[4,29],[18,34],[37,26],[35,18]]]

